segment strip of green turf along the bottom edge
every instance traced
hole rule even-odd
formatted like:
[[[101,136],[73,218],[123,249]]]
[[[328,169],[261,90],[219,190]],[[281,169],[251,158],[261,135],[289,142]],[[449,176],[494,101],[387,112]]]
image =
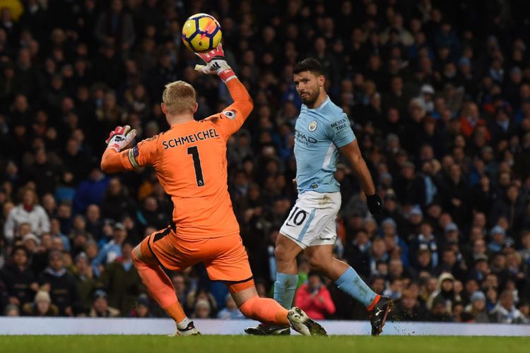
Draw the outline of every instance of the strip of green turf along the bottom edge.
[[[530,352],[529,337],[0,336],[0,352]]]

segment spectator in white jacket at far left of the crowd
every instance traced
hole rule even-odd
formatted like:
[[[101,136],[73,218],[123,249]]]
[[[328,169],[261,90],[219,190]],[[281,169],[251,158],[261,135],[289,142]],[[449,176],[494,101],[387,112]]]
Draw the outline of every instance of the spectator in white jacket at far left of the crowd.
[[[22,203],[18,204],[9,212],[4,224],[4,237],[8,241],[13,241],[17,234],[16,229],[22,223],[27,222],[31,226],[31,232],[40,236],[49,232],[49,218],[44,208],[37,204],[37,194],[35,191],[26,189],[22,193]]]

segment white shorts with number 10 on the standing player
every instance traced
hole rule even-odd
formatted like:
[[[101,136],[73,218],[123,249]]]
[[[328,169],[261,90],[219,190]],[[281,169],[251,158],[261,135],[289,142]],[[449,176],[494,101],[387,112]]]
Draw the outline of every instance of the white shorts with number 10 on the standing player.
[[[333,245],[337,239],[336,217],[341,208],[341,193],[306,191],[298,196],[280,233],[302,249]]]

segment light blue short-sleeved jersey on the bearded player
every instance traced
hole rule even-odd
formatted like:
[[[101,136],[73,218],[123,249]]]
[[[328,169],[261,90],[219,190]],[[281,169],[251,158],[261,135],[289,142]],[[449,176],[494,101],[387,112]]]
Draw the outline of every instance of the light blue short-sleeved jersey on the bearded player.
[[[329,97],[317,109],[302,104],[295,126],[296,184],[298,193],[333,193],[338,148],[355,140],[350,120]]]

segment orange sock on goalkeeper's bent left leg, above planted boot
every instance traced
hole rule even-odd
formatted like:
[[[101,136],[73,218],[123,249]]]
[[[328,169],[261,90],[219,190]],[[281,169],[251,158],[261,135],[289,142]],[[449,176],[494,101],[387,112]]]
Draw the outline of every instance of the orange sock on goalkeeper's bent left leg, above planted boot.
[[[159,265],[148,265],[140,261],[133,251],[133,261],[136,270],[144,285],[146,285],[149,294],[165,310],[168,316],[180,323],[186,318],[186,314],[180,306],[175,288]]]

